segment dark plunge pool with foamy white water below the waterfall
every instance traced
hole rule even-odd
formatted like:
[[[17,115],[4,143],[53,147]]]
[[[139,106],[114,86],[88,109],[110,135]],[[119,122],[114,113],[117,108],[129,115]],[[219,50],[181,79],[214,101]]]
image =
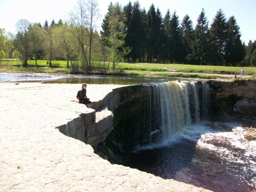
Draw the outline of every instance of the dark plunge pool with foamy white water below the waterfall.
[[[215,192],[256,191],[256,141],[239,124],[191,124],[161,144],[138,146],[126,166]]]

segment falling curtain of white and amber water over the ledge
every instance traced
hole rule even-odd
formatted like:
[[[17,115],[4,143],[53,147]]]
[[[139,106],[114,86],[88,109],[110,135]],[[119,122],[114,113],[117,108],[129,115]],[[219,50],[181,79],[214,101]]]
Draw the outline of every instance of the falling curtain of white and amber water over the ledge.
[[[140,92],[144,100],[141,102],[144,105],[141,106],[144,108],[143,124],[150,142],[156,130],[160,130],[162,139],[166,140],[185,125],[198,123],[200,118],[207,116],[210,106],[210,90],[206,82],[144,84]]]

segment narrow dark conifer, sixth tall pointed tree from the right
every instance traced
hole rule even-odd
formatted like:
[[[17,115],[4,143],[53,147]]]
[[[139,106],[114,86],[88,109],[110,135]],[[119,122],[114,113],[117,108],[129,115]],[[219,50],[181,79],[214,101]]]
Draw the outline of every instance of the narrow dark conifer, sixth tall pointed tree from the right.
[[[168,9],[165,16],[164,16],[164,63],[165,60],[168,63],[168,60],[170,60],[170,47],[171,47],[171,13]]]

